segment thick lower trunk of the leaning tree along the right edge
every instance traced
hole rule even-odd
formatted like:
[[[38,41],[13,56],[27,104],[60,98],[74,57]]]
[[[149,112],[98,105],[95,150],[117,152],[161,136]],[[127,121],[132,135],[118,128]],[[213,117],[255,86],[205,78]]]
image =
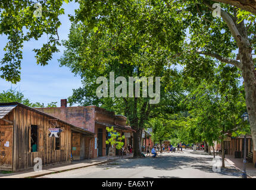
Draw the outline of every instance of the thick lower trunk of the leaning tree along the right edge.
[[[251,126],[251,135],[254,142],[254,150],[256,150],[256,79],[255,69],[252,61],[251,47],[239,48],[241,56],[242,75],[245,86],[246,107],[249,115],[249,124]]]

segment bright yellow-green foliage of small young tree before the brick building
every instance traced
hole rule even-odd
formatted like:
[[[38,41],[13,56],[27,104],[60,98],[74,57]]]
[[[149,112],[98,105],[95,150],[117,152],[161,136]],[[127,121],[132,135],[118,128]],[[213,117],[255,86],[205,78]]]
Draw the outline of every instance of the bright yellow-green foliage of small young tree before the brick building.
[[[124,143],[121,141],[125,138],[124,135],[121,136],[120,132],[115,131],[113,126],[111,128],[106,127],[106,130],[111,135],[111,138],[108,138],[108,140],[106,140],[106,144],[111,144],[115,146],[115,148],[120,150],[124,145]]]

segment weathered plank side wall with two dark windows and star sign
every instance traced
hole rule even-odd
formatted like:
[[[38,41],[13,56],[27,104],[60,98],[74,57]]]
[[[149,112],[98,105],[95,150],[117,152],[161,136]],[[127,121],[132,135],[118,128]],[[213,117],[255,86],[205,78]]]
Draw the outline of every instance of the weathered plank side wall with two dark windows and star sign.
[[[34,159],[42,159],[43,166],[53,163],[67,162],[71,153],[71,129],[70,126],[57,122],[64,131],[61,132],[60,150],[55,150],[54,137],[48,137],[49,128],[54,128],[56,121],[47,116],[21,106],[15,107],[14,111],[14,162],[13,170],[29,169],[35,165]],[[52,125],[53,123],[54,125]],[[38,152],[31,152],[30,128],[38,125]]]

